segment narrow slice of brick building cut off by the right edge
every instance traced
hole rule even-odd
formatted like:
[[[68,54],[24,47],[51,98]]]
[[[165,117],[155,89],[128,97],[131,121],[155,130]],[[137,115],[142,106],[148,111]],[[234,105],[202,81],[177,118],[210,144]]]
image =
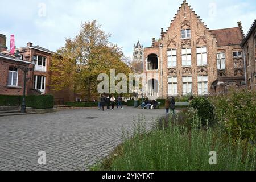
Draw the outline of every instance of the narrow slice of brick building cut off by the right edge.
[[[243,39],[242,47],[245,52],[246,86],[256,89],[256,20]]]

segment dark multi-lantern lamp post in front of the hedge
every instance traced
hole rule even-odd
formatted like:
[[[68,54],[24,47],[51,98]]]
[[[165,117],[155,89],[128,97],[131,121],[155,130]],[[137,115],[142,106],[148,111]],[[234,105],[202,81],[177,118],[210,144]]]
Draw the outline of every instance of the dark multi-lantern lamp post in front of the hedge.
[[[15,61],[17,61],[19,63],[20,62],[20,57],[21,57],[19,55],[19,51],[17,51],[14,56],[15,56]],[[21,106],[21,109],[20,109],[21,113],[26,113],[26,99],[25,99],[25,97],[26,97],[27,73],[30,72],[30,71],[33,71],[35,69],[36,56],[33,56],[31,61],[32,61],[33,68],[18,65],[18,68],[24,72],[23,98],[22,98],[22,106]]]

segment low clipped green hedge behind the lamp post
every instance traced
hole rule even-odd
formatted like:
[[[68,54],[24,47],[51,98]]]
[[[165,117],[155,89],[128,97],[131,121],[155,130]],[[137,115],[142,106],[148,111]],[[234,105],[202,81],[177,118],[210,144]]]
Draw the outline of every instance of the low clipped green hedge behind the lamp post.
[[[20,106],[23,96],[0,95],[0,106]],[[54,97],[51,95],[26,96],[26,106],[34,109],[51,109]]]

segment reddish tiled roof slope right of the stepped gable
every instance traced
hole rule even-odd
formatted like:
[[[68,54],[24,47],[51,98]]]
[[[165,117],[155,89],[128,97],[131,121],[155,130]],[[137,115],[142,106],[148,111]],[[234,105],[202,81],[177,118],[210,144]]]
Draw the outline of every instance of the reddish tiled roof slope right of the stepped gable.
[[[217,46],[241,44],[243,36],[239,27],[210,30],[216,37]]]

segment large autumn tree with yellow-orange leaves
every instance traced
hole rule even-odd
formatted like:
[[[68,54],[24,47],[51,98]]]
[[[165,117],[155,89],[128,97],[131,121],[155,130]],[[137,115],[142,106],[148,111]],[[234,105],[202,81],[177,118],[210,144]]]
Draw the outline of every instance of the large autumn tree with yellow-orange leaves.
[[[52,57],[53,90],[73,88],[90,101],[98,94],[100,73],[110,76],[110,69],[115,69],[117,74],[128,75],[131,70],[122,61],[122,49],[110,43],[109,38],[110,34],[102,31],[96,20],[82,23],[79,34],[73,40],[65,40],[65,46]]]

